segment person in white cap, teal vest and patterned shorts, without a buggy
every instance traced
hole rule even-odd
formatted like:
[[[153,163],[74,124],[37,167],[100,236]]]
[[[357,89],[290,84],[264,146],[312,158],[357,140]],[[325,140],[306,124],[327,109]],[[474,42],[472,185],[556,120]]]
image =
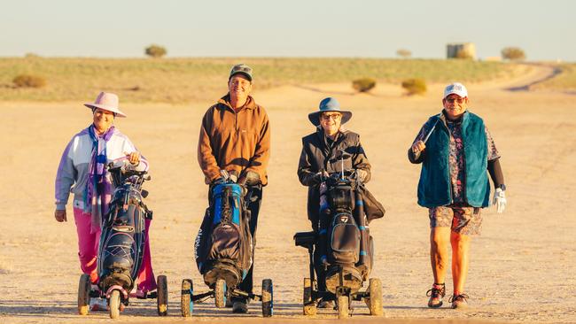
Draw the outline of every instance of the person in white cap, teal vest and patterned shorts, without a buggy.
[[[408,150],[411,163],[422,164],[418,204],[428,208],[430,257],[434,283],[428,290],[428,307],[438,308],[446,294],[448,246],[452,247],[452,308],[468,305],[464,283],[470,264],[471,235],[482,225],[480,210],[489,205],[490,174],[494,182],[496,212],[506,206],[500,153],[488,128],[468,111],[468,90],[462,83],[448,84],[442,98],[444,109],[432,116]]]

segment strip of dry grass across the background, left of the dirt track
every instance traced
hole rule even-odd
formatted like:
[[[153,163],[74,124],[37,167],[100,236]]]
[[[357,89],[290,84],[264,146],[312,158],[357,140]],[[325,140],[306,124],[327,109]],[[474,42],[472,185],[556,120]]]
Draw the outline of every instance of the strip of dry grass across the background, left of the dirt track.
[[[400,84],[486,81],[513,74],[514,65],[470,60],[370,58],[0,58],[0,100],[90,100],[100,90],[123,102],[185,103],[214,100],[226,92],[230,66],[253,66],[256,89],[285,84],[350,82],[370,77]],[[13,89],[14,76],[42,75],[43,89]]]

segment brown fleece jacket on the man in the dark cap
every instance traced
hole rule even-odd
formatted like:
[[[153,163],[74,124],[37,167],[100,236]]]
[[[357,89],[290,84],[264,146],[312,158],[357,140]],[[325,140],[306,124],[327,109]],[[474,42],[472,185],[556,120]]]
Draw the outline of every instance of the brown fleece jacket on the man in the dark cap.
[[[247,171],[268,183],[266,168],[270,158],[270,127],[264,108],[252,96],[235,112],[230,94],[208,108],[202,119],[198,140],[198,163],[206,184],[220,176],[220,169],[235,171],[242,178]]]

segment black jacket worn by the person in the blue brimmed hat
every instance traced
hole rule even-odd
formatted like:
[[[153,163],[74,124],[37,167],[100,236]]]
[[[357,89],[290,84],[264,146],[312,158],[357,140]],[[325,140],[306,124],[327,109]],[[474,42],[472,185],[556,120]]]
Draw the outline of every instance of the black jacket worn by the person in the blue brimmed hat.
[[[300,183],[308,187],[308,220],[313,222],[318,220],[320,195],[319,181],[315,174],[321,171],[326,171],[328,174],[341,172],[342,156],[344,156],[345,172],[362,169],[367,173],[364,183],[370,181],[370,162],[360,143],[360,135],[344,130],[339,133],[336,141],[330,144],[322,127],[317,127],[315,133],[302,138],[298,178]]]

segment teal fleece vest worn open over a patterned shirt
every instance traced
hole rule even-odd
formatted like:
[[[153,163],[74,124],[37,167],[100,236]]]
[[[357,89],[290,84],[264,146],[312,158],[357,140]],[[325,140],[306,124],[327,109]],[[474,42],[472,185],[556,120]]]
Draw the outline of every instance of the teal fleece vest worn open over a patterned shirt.
[[[426,121],[426,128],[431,129],[437,121],[438,124],[426,142],[418,182],[418,204],[428,208],[453,203],[448,166],[450,143],[448,127],[440,119],[440,115],[436,115]],[[486,172],[488,145],[484,120],[471,112],[464,112],[461,127],[465,159],[466,202],[474,207],[487,207],[490,198],[490,183]]]

